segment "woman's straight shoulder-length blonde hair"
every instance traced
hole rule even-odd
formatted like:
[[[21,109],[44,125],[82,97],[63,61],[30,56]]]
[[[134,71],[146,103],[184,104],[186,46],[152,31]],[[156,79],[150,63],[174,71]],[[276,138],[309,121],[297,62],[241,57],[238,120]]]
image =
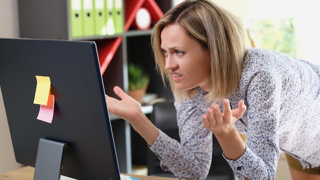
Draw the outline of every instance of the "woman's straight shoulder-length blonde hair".
[[[173,94],[182,100],[191,97],[195,89],[179,91],[171,74],[165,69],[165,56],[161,50],[161,32],[172,24],[178,24],[195,38],[210,54],[211,92],[208,102],[230,97],[239,85],[245,58],[245,36],[242,22],[209,0],[186,0],[170,9],[153,27],[152,50],[156,69],[162,79],[168,79]]]

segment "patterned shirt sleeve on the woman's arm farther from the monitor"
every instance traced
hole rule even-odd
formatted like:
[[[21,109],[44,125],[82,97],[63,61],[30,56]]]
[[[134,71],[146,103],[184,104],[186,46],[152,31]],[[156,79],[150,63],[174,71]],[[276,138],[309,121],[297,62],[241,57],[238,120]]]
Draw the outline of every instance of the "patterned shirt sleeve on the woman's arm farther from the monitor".
[[[247,144],[236,161],[226,159],[238,179],[275,179],[279,161],[278,126],[282,82],[265,71],[257,73],[247,89]]]

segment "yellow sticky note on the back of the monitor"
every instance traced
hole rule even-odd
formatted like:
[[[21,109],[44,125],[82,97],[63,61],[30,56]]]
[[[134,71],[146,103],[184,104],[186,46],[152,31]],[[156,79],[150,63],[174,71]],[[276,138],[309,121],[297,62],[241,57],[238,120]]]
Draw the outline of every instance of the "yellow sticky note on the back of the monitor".
[[[47,105],[50,93],[51,81],[48,76],[36,76],[37,86],[34,95],[34,104]]]

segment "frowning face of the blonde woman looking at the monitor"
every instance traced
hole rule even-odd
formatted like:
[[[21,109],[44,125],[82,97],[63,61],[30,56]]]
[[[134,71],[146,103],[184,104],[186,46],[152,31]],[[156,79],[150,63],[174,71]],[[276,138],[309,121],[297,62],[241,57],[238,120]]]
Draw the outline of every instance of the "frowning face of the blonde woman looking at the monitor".
[[[161,32],[165,69],[172,74],[175,87],[188,90],[200,86],[211,91],[209,51],[190,37],[180,25],[169,25]]]

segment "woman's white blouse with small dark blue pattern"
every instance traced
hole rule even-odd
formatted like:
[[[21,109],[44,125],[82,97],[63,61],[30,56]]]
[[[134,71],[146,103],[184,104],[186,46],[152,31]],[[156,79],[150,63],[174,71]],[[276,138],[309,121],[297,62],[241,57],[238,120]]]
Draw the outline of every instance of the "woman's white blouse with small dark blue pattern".
[[[236,161],[225,160],[238,179],[274,179],[280,149],[304,168],[320,166],[320,66],[272,50],[249,48],[241,81],[230,97],[232,108],[244,100],[247,110],[236,121],[247,136]],[[211,104],[199,87],[193,99],[175,101],[180,143],[160,131],[150,149],[164,170],[177,178],[205,179],[212,156],[212,133],[202,125]],[[222,105],[220,104],[222,109]]]

